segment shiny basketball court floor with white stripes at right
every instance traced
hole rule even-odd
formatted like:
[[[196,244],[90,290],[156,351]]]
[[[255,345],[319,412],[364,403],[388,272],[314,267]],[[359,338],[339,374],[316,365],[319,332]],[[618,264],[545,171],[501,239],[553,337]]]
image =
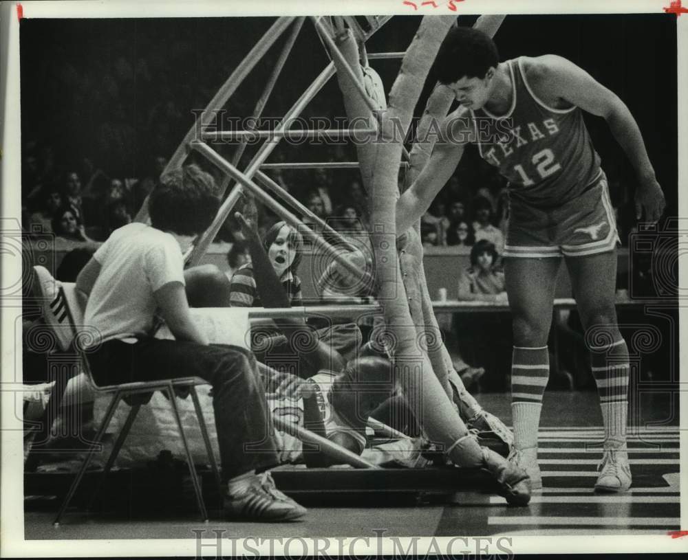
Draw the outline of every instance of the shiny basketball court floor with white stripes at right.
[[[510,424],[508,396],[482,394],[482,404]],[[635,411],[635,412],[633,412]],[[618,495],[592,491],[601,458],[601,414],[594,392],[547,392],[539,432],[544,490],[523,508],[477,488],[426,503],[379,493],[345,503],[327,493],[301,494],[308,515],[288,524],[230,522],[193,506],[173,517],[130,517],[121,511],[69,511],[52,526],[58,500],[25,500],[25,539],[193,539],[215,528],[229,537],[447,537],[453,535],[665,535],[680,529],[678,395],[640,395],[632,405],[636,428],[628,438],[632,489]],[[276,477],[277,479],[277,477]],[[106,482],[107,484],[107,482]],[[193,504],[193,502],[191,502]]]

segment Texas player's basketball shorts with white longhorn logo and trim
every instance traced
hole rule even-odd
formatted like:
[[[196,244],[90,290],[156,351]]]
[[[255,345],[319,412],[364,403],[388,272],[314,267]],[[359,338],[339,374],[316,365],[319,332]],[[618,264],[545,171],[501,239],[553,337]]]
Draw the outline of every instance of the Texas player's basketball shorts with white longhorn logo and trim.
[[[535,208],[512,199],[505,257],[577,257],[611,251],[620,243],[607,177],[555,208]]]

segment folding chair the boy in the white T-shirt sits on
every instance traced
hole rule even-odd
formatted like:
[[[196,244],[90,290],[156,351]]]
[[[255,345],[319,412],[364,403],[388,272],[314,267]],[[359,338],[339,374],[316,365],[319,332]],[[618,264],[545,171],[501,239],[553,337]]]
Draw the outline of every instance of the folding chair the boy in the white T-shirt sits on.
[[[202,487],[193,464],[193,457],[191,456],[191,450],[189,449],[186,435],[184,434],[184,427],[182,425],[182,420],[179,414],[177,403],[175,401],[175,389],[188,390],[191,394],[193,407],[198,419],[198,425],[201,429],[201,434],[203,436],[206,451],[208,453],[208,459],[211,462],[213,474],[215,475],[215,482],[217,483],[218,490],[222,491],[219,469],[217,467],[217,462],[215,461],[215,455],[213,453],[213,448],[211,447],[211,440],[208,437],[208,430],[206,429],[203,412],[201,410],[198,395],[195,390],[196,385],[203,385],[207,384],[208,382],[200,377],[185,377],[180,379],[162,379],[160,381],[136,381],[133,383],[122,383],[120,385],[96,385],[93,380],[88,361],[85,357],[85,352],[83,352],[83,346],[85,346],[87,342],[92,341],[92,333],[83,330],[83,314],[81,312],[82,307],[78,300],[78,293],[76,292],[75,284],[58,282],[57,280],[54,280],[50,273],[43,267],[34,267],[34,273],[36,278],[39,279],[39,282],[49,282],[51,280],[54,282],[54,298],[50,302],[46,301],[44,307],[46,323],[55,329],[56,335],[61,338],[61,345],[67,343],[68,341],[68,346],[71,346],[74,348],[74,350],[76,350],[79,356],[80,367],[83,370],[87,381],[90,383],[90,385],[92,385],[96,395],[113,394],[105,412],[105,418],[103,418],[103,422],[100,424],[98,432],[96,433],[94,440],[91,442],[92,445],[89,447],[87,456],[81,464],[80,470],[78,471],[74,482],[72,482],[72,486],[69,488],[69,492],[67,493],[67,496],[65,497],[65,500],[58,511],[54,525],[59,525],[60,519],[63,513],[65,513],[67,506],[69,506],[69,502],[72,500],[72,497],[74,497],[74,493],[76,493],[76,489],[78,489],[81,479],[88,469],[94,453],[102,449],[100,442],[103,439],[103,435],[105,434],[105,431],[107,430],[107,427],[112,419],[112,416],[114,416],[120,401],[125,400],[125,402],[130,403],[131,409],[129,410],[127,419],[120,430],[110,456],[107,459],[105,467],[103,468],[103,473],[100,476],[98,486],[96,486],[96,490],[92,493],[89,505],[92,503],[94,495],[96,495],[96,492],[103,484],[107,474],[111,470],[122,445],[125,443],[127,434],[129,434],[129,429],[131,429],[131,425],[136,419],[136,415],[138,414],[141,405],[147,403],[155,391],[161,391],[168,397],[170,402],[172,412],[175,416],[175,420],[177,421],[180,435],[182,436],[184,450],[186,451],[186,462],[189,464],[189,473],[191,473],[191,481],[193,482],[193,489],[195,491],[198,508],[200,509],[203,521],[207,522],[208,513],[203,500]],[[67,336],[67,334],[69,336]]]

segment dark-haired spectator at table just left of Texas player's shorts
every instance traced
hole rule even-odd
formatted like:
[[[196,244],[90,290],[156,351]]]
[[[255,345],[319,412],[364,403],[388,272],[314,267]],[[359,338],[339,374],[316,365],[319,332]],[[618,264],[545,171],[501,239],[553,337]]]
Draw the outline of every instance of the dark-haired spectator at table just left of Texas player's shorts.
[[[476,241],[471,249],[471,266],[459,279],[460,300],[506,301],[504,272],[495,267],[499,254],[488,240]]]

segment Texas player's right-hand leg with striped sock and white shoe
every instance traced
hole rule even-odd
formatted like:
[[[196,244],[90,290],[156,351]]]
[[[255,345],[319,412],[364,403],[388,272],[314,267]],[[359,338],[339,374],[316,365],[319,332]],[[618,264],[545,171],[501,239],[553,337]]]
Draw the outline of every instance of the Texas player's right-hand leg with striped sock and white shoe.
[[[567,257],[566,265],[591,352],[605,429],[605,452],[595,489],[625,491],[631,484],[626,452],[629,362],[614,307],[616,250]]]

